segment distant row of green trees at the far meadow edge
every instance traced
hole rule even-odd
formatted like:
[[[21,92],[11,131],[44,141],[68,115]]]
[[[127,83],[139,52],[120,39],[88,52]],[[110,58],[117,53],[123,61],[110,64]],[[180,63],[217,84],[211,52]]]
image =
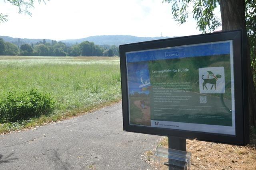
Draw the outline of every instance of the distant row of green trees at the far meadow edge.
[[[65,43],[46,40],[36,44],[27,44],[17,41],[5,42],[0,38],[0,55],[26,55],[26,56],[119,56],[119,48],[115,45],[95,45],[84,41],[80,44],[67,46]]]

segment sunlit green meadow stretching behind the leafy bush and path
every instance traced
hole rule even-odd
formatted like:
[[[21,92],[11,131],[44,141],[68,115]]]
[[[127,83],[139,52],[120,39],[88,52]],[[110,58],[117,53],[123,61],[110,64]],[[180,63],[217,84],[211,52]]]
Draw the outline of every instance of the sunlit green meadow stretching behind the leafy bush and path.
[[[50,93],[56,101],[53,120],[121,99],[118,57],[1,56],[0,80],[0,94],[32,88]]]

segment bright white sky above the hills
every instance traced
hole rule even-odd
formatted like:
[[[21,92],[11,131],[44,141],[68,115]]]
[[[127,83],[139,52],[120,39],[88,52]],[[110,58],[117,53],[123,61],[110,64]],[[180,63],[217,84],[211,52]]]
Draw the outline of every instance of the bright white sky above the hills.
[[[171,6],[162,0],[35,0],[32,16],[18,13],[18,7],[0,0],[0,35],[30,39],[80,39],[95,35],[138,37],[186,36],[201,32],[189,18],[179,25]]]

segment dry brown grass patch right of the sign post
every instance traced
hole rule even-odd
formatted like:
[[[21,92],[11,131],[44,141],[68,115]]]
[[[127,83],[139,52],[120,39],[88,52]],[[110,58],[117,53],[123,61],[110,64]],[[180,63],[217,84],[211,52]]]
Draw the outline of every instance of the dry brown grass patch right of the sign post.
[[[194,170],[256,170],[256,148],[187,140]]]

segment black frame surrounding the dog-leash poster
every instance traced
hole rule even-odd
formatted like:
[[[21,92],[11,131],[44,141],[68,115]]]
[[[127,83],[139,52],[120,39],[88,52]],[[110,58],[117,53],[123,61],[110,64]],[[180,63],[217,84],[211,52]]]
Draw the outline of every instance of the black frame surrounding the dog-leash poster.
[[[146,41],[120,45],[120,69],[122,85],[122,111],[124,131],[145,133],[151,135],[174,136],[184,139],[197,139],[216,143],[226,143],[232,145],[247,145],[249,143],[248,125],[248,91],[247,91],[247,60],[246,57],[246,33],[242,30],[208,33],[202,35],[192,35],[186,37],[175,37],[155,41]],[[160,49],[176,47],[181,45],[193,45],[199,43],[209,43],[217,41],[233,41],[234,59],[234,95],[235,95],[235,129],[236,135],[226,135],[219,133],[205,133],[198,131],[187,131],[177,129],[166,129],[159,127],[145,127],[140,125],[130,125],[128,111],[128,85],[127,85],[127,63],[126,53],[132,51],[142,51],[150,49]]]

